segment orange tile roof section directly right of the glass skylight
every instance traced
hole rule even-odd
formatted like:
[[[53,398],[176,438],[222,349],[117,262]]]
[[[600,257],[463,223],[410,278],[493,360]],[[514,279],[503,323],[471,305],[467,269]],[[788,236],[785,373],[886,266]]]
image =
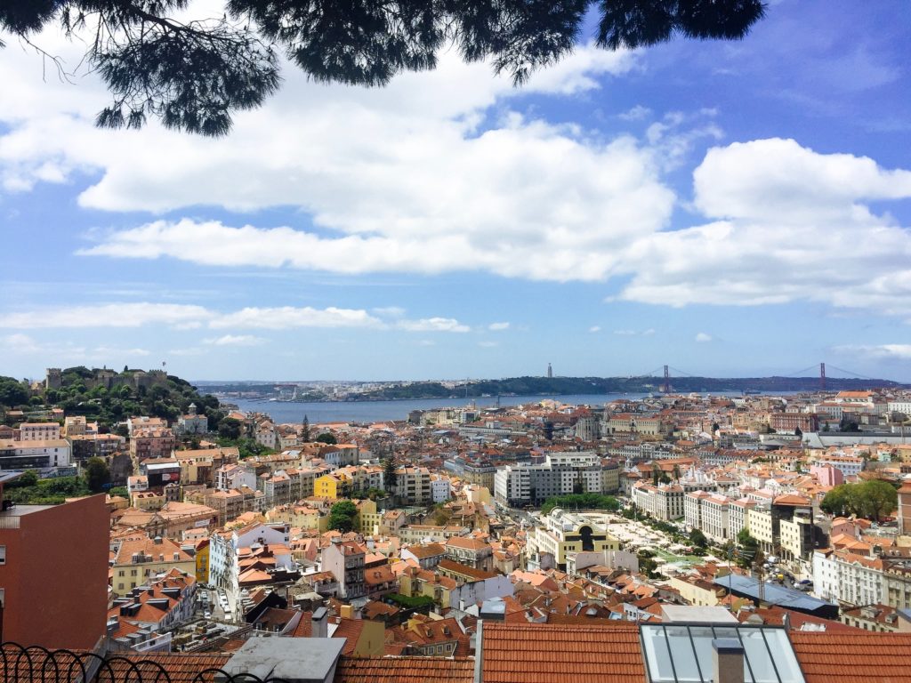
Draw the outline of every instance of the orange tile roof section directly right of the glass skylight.
[[[806,683],[911,683],[911,633],[792,631]]]

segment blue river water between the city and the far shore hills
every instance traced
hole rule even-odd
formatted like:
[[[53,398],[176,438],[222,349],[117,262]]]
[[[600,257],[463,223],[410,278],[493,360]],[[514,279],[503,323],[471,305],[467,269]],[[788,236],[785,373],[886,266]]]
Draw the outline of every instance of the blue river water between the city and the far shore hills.
[[[740,392],[711,392],[712,395],[740,396]],[[615,399],[640,399],[648,393],[577,393],[562,396],[501,396],[500,405],[519,405],[520,403],[537,403],[553,399],[570,405],[587,404],[600,407]],[[385,420],[405,420],[408,413],[415,410],[434,410],[435,408],[460,408],[475,403],[478,408],[496,406],[496,396],[480,398],[447,398],[420,399],[416,401],[347,401],[338,403],[285,403],[278,401],[249,401],[244,399],[225,399],[226,403],[236,403],[241,411],[266,413],[275,423],[301,423],[306,415],[311,423],[374,423]]]

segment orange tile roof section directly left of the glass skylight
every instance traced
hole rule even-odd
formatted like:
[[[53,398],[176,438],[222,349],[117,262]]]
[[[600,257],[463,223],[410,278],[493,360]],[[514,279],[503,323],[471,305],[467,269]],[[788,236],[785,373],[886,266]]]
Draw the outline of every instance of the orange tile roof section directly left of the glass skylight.
[[[639,627],[496,624],[483,629],[485,683],[641,683]]]

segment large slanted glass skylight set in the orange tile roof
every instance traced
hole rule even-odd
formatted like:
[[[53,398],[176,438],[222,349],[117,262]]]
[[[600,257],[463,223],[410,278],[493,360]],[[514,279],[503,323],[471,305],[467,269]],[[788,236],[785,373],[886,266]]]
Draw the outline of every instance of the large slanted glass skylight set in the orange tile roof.
[[[804,683],[791,640],[781,627],[652,624],[640,627],[651,683],[712,683],[712,640],[743,647],[744,683]]]

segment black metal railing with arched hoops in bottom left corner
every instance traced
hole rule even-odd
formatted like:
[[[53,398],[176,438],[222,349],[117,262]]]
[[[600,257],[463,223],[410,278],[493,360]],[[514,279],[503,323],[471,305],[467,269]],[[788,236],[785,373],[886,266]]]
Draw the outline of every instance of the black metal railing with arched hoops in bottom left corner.
[[[7,641],[0,646],[0,683],[289,683],[286,678],[230,674],[203,665],[199,671],[188,672],[187,658],[180,655],[173,656],[177,666],[169,670],[168,657],[160,655],[156,661],[141,655],[102,656]]]

